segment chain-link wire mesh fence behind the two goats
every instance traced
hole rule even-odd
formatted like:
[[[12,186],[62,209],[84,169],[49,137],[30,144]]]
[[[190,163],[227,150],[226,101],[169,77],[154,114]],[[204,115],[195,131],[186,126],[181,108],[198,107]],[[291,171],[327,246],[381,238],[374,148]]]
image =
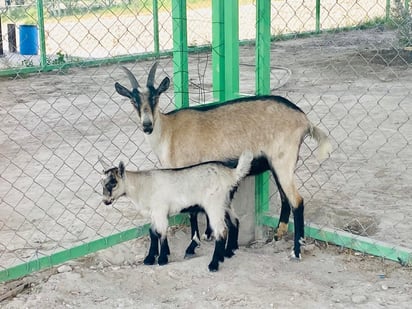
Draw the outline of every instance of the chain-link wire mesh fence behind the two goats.
[[[39,25],[38,3],[0,6],[0,72],[8,75],[0,79],[0,271],[144,223],[126,201],[102,205],[98,157],[158,165],[131,104],[114,91],[126,80],[118,62],[130,60],[144,81],[153,61],[145,57],[161,57],[158,78],[173,76],[171,1],[44,1],[45,53],[40,38],[36,54],[22,55],[19,26]],[[411,248],[409,2],[317,3],[272,2],[272,93],[295,102],[334,144],[321,165],[310,140],[302,147],[296,174],[306,220]],[[188,1],[192,47],[212,41],[210,6]],[[253,41],[255,3],[239,8],[240,39]],[[209,51],[190,54],[191,104],[213,100]],[[243,94],[254,93],[254,64],[254,47],[243,45]],[[174,108],[172,91],[161,106]],[[278,215],[273,186],[270,204]]]

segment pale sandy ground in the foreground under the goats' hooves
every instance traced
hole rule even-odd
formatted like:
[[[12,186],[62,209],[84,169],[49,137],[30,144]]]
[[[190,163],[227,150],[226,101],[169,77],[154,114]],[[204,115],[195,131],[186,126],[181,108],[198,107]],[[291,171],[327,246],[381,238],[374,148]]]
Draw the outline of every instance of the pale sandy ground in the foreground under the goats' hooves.
[[[411,268],[319,243],[292,262],[280,241],[241,247],[210,273],[213,244],[184,260],[187,232],[170,233],[166,266],[143,265],[149,240],[131,241],[26,278],[2,308],[410,308]]]

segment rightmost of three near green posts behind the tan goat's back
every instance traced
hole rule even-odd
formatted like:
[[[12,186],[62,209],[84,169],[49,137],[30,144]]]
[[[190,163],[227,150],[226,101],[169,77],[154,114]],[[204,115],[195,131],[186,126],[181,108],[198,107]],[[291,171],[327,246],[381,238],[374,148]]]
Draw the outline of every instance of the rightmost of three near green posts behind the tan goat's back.
[[[270,94],[270,0],[256,2],[256,94]],[[262,215],[269,210],[269,173],[255,178],[255,218],[257,233]],[[260,235],[263,236],[263,235]]]

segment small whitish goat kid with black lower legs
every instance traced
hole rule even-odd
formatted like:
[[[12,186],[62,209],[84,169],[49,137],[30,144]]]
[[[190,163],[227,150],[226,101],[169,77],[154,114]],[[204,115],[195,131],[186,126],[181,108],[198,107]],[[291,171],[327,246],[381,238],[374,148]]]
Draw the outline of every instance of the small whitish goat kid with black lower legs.
[[[206,162],[179,169],[131,172],[123,162],[104,172],[103,202],[110,205],[121,196],[128,197],[136,208],[151,219],[150,248],[144,263],[167,264],[170,254],[166,238],[168,216],[185,211],[192,205],[201,207],[209,217],[216,238],[210,271],[217,271],[224,261],[227,221],[234,216],[230,203],[232,191],[250,170],[253,154],[245,151],[236,168],[222,162]],[[230,235],[229,235],[230,237]],[[160,241],[160,254],[159,254]]]

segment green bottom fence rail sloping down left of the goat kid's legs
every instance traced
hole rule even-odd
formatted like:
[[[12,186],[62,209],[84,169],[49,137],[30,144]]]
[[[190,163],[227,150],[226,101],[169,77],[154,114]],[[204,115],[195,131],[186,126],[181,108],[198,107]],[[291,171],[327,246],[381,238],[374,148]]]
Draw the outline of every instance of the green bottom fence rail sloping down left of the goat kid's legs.
[[[169,225],[187,224],[187,216],[177,215],[169,218]],[[0,271],[0,282],[10,281],[27,276],[35,271],[50,268],[90,253],[107,249],[122,242],[145,236],[149,233],[150,224],[144,224],[124,232],[113,234],[79,246],[53,253],[33,261]]]

